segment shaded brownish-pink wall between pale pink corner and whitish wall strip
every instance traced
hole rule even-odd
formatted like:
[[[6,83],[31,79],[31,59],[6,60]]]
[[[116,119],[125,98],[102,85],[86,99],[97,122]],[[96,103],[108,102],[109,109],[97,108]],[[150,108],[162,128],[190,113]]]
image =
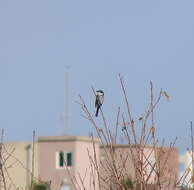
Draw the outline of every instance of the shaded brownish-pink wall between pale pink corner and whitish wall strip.
[[[114,156],[113,156],[114,155]],[[113,166],[114,164],[114,166]],[[113,168],[116,167],[118,175],[124,179],[135,179],[135,169],[131,152],[128,146],[115,146],[114,153],[107,146],[100,148],[100,175],[102,189],[114,189],[116,180]]]

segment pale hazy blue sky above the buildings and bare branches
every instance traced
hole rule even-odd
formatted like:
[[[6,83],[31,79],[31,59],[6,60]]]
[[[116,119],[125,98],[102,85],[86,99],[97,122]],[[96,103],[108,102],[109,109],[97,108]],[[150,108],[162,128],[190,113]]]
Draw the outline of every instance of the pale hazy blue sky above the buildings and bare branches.
[[[91,85],[105,91],[113,123],[123,106],[124,76],[134,118],[145,111],[149,81],[165,89],[157,133],[189,145],[194,120],[194,1],[1,0],[0,126],[6,140],[37,135],[88,135],[75,103],[81,94],[94,112]],[[69,128],[64,127],[65,72]]]

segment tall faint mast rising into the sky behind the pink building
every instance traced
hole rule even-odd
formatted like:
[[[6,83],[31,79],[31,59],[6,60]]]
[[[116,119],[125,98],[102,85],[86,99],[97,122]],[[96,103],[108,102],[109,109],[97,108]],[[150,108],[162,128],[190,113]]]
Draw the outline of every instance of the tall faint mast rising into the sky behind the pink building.
[[[69,68],[67,65],[65,69],[65,113],[64,113],[64,124],[65,124],[65,134],[69,130]]]

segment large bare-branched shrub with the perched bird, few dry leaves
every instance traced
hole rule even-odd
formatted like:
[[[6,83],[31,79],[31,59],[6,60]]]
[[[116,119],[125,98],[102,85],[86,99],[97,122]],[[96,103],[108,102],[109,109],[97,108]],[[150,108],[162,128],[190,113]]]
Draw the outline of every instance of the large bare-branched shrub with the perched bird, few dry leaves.
[[[104,161],[98,163],[95,159],[91,160],[91,165],[95,168],[94,173],[97,173],[97,179],[92,179],[96,180],[93,184],[98,184],[100,190],[175,189],[182,187],[188,173],[184,173],[181,178],[177,176],[177,149],[174,147],[177,138],[168,147],[164,147],[164,141],[159,142],[155,133],[157,130],[154,118],[155,110],[161,98],[169,100],[169,95],[161,89],[155,98],[153,84],[150,82],[150,103],[146,112],[139,117],[137,122],[131,113],[124,82],[120,75],[119,80],[126,110],[118,108],[114,131],[111,130],[102,108],[100,108],[100,119],[95,118],[89,111],[84,98],[80,96],[79,104],[84,113],[83,117],[95,129],[104,149]],[[96,96],[93,87],[92,91]],[[98,125],[99,120],[102,123],[100,126]],[[126,142],[127,151],[122,151],[117,147],[118,134],[122,135]],[[93,158],[95,157],[96,155],[93,156]],[[175,160],[172,161],[173,157]],[[127,168],[128,165],[130,165],[130,169]],[[102,173],[103,175],[101,175]],[[81,183],[84,184],[84,180]]]

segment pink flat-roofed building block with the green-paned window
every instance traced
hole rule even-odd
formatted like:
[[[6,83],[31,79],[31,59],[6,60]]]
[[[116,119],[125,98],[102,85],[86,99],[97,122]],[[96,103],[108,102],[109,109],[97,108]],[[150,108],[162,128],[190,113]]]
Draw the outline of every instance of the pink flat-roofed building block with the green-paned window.
[[[99,140],[88,137],[39,137],[39,178],[51,181],[51,189],[90,189],[92,160],[99,158]],[[95,152],[94,152],[95,150]],[[91,178],[92,176],[92,178]],[[96,184],[98,186],[98,184]]]

